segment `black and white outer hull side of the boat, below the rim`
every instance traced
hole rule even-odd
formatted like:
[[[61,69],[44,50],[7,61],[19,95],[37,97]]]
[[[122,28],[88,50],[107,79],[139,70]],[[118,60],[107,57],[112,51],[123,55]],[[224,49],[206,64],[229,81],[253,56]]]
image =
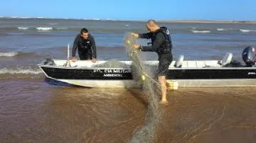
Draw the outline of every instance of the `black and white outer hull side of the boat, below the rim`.
[[[39,66],[50,79],[93,88],[139,88],[129,68],[75,68]],[[179,87],[242,87],[256,86],[254,67],[171,68],[167,81],[177,81]]]

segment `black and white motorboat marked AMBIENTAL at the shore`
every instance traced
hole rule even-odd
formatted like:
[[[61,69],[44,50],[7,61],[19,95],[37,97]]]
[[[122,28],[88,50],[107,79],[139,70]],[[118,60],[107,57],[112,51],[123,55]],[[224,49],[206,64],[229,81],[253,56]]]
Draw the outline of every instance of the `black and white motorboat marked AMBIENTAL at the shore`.
[[[166,75],[167,81],[178,82],[179,87],[223,87],[256,86],[256,67],[232,62],[232,53],[222,60],[184,60],[181,55],[171,62]],[[46,59],[38,67],[47,78],[77,86],[93,88],[139,88],[142,81],[134,80],[132,61],[119,61],[122,67],[102,67],[108,61],[70,62],[66,67],[65,59]],[[158,61],[144,61],[156,68]]]

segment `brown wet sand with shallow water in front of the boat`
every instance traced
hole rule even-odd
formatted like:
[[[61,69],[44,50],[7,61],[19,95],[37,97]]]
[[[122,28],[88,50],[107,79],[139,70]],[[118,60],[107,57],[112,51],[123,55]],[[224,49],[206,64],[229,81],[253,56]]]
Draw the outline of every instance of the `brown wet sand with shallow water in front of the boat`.
[[[129,142],[144,124],[142,89],[0,82],[0,142]],[[255,88],[179,88],[160,105],[154,142],[255,142]]]

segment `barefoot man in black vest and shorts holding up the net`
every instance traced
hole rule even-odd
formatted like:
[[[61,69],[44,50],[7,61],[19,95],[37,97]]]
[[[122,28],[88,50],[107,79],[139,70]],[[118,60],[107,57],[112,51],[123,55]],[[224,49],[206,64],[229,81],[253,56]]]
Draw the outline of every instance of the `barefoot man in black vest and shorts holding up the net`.
[[[147,21],[146,28],[149,30],[149,33],[131,33],[131,35],[137,38],[151,38],[152,46],[142,47],[141,45],[134,45],[134,50],[140,49],[157,53],[159,57],[157,75],[161,85],[161,103],[166,103],[166,73],[173,59],[171,36],[167,28],[160,27],[154,20]]]

